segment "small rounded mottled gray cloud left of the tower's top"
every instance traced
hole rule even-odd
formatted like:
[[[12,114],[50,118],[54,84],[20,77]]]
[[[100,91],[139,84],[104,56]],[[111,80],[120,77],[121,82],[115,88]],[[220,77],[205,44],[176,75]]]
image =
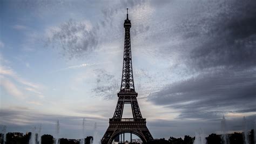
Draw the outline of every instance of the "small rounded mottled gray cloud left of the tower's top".
[[[87,22],[75,22],[70,19],[48,33],[47,45],[59,47],[69,58],[82,57],[97,48],[98,38],[95,27]]]

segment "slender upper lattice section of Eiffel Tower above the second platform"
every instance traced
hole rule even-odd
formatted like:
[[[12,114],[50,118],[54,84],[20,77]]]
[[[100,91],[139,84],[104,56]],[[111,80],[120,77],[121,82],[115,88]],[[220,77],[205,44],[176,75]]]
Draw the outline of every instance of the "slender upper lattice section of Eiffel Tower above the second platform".
[[[124,62],[123,74],[120,92],[135,92],[133,84],[132,73],[132,52],[131,52],[131,37],[130,37],[131,20],[127,18],[124,20],[125,38],[124,38]]]

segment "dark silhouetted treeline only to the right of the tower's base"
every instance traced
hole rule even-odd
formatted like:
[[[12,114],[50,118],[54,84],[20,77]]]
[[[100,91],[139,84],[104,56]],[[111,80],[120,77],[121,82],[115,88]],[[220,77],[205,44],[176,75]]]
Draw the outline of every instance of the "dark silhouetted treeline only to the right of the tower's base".
[[[254,144],[254,130],[252,129],[247,135],[247,142],[249,144]],[[170,136],[169,140],[163,139],[155,139],[153,141],[147,142],[147,144],[193,144],[195,137],[191,137],[189,135],[185,135],[184,139],[182,138],[173,138]],[[218,134],[210,134],[206,138],[207,144],[243,144],[245,141],[244,133],[233,133],[226,134],[224,138],[221,138],[221,135]]]

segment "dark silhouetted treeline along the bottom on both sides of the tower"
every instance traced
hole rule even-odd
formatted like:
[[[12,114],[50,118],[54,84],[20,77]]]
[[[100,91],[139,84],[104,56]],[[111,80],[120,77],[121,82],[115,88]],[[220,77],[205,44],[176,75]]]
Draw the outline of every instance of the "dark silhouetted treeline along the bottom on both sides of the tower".
[[[254,144],[256,141],[254,140],[254,130],[252,129],[247,134],[247,142],[249,144]],[[3,134],[0,134],[0,143],[3,143]],[[38,136],[36,134],[35,141],[37,144],[39,143]],[[7,133],[5,144],[29,144],[29,140],[31,138],[31,133],[26,133],[25,135],[21,133]],[[195,137],[191,137],[189,135],[185,135],[184,139],[182,138],[173,138],[170,136],[169,140],[163,139],[154,139],[153,141],[147,142],[147,144],[193,144]],[[210,134],[205,138],[207,144],[223,144],[225,141],[230,144],[242,144],[245,141],[244,133],[233,133],[226,134],[225,138],[222,138],[222,135],[218,134]],[[85,144],[91,144],[93,142],[92,136],[87,136],[85,138]],[[52,135],[44,134],[41,136],[41,144],[53,144],[55,143],[55,139]],[[80,140],[76,139],[59,139],[60,144],[79,144]]]

